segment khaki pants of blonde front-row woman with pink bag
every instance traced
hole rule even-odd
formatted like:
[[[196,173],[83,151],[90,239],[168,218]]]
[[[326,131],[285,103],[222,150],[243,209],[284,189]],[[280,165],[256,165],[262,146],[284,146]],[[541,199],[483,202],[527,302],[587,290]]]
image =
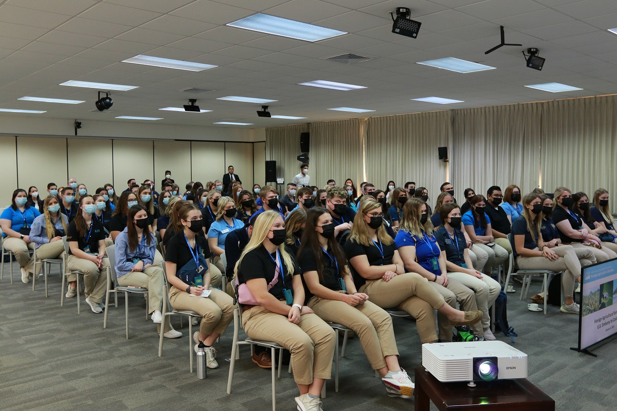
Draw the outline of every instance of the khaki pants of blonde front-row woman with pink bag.
[[[300,316],[294,324],[285,315],[254,306],[242,313],[242,328],[255,340],[274,341],[291,352],[297,384],[310,385],[313,378],[329,380],[334,356],[334,330],[316,314]]]

